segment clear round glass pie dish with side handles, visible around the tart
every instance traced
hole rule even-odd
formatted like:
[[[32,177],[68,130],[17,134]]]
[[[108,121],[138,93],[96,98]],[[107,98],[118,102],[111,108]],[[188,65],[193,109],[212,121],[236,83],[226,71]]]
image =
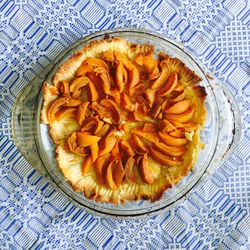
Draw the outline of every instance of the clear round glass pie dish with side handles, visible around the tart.
[[[61,64],[72,54],[91,41],[104,37],[121,37],[135,43],[149,43],[155,46],[156,53],[163,51],[181,59],[190,69],[202,78],[200,83],[207,92],[205,107],[207,118],[200,133],[205,148],[199,152],[192,171],[180,183],[167,190],[159,201],[128,201],[126,204],[98,203],[75,192],[65,180],[57,166],[48,126],[41,123],[44,81],[51,79]],[[80,39],[63,51],[43,72],[26,86],[17,98],[12,114],[14,141],[23,156],[55,188],[78,207],[102,216],[118,218],[138,218],[155,215],[182,202],[192,191],[202,185],[211,173],[226,160],[240,138],[240,117],[237,104],[230,92],[218,80],[212,79],[209,72],[198,64],[190,53],[176,42],[163,36],[141,29],[116,29],[101,31]],[[211,75],[211,74],[210,74]]]

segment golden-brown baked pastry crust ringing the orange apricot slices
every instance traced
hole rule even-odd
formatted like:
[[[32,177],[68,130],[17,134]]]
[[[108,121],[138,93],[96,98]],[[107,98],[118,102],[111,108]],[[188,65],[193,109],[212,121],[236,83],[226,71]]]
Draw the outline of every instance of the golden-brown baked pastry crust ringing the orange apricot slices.
[[[44,103],[42,108],[41,120],[48,124],[47,109],[50,104],[58,97],[59,84],[63,80],[71,80],[75,77],[77,69],[88,57],[99,57],[101,52],[117,51],[124,53],[129,59],[136,56],[149,55],[154,53],[154,46],[148,44],[134,44],[121,38],[111,38],[98,41],[92,41],[81,50],[64,62],[56,71],[53,77],[53,84],[44,84],[43,95]],[[76,192],[83,192],[85,197],[94,199],[98,202],[109,202],[114,204],[125,203],[127,200],[150,200],[151,202],[161,199],[164,192],[178,183],[192,169],[199,150],[199,130],[205,121],[206,110],[204,100],[206,97],[205,88],[197,86],[201,78],[190,70],[183,62],[177,58],[171,58],[164,53],[159,55],[160,61],[166,60],[170,72],[177,72],[179,83],[186,87],[187,94],[194,98],[194,105],[197,106],[197,114],[194,117],[199,123],[195,140],[191,143],[189,157],[184,159],[180,168],[162,167],[158,179],[153,184],[146,184],[143,181],[138,183],[128,183],[124,181],[121,186],[115,190],[109,189],[105,185],[100,185],[94,171],[94,166],[82,175],[83,156],[76,155],[65,150],[64,144],[68,136],[80,129],[79,125],[71,118],[65,118],[55,121],[50,126],[50,135],[56,144],[56,160],[58,166],[63,172],[66,180],[70,183]],[[69,126],[70,125],[70,126]],[[193,151],[191,149],[194,149]],[[192,153],[192,157],[190,156]],[[191,157],[191,159],[190,159]]]

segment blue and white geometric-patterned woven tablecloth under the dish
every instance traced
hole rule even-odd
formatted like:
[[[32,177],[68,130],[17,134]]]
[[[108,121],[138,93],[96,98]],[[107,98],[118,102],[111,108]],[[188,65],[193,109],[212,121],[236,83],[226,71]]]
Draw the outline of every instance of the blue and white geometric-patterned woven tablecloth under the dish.
[[[87,34],[140,27],[184,44],[223,81],[242,115],[240,145],[201,189],[153,218],[88,214],[17,151],[21,89]],[[250,249],[250,1],[0,1],[0,249]]]

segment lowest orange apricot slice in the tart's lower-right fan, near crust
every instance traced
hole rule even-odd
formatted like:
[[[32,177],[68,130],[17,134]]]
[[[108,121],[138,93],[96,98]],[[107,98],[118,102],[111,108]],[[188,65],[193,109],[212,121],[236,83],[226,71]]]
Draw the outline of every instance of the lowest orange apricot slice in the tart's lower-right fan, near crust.
[[[163,153],[161,153],[160,151],[158,151],[155,148],[149,148],[149,155],[157,162],[159,162],[160,164],[162,164],[162,166],[173,166],[173,167],[177,167],[180,166],[182,164],[182,160],[179,158],[171,158]]]

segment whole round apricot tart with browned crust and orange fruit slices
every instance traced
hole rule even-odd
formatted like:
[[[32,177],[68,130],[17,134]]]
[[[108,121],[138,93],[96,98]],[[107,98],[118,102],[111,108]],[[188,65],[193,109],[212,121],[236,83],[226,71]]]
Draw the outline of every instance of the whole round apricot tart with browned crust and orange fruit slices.
[[[200,81],[179,59],[117,37],[64,62],[44,83],[42,122],[73,189],[99,202],[159,200],[202,147]]]

